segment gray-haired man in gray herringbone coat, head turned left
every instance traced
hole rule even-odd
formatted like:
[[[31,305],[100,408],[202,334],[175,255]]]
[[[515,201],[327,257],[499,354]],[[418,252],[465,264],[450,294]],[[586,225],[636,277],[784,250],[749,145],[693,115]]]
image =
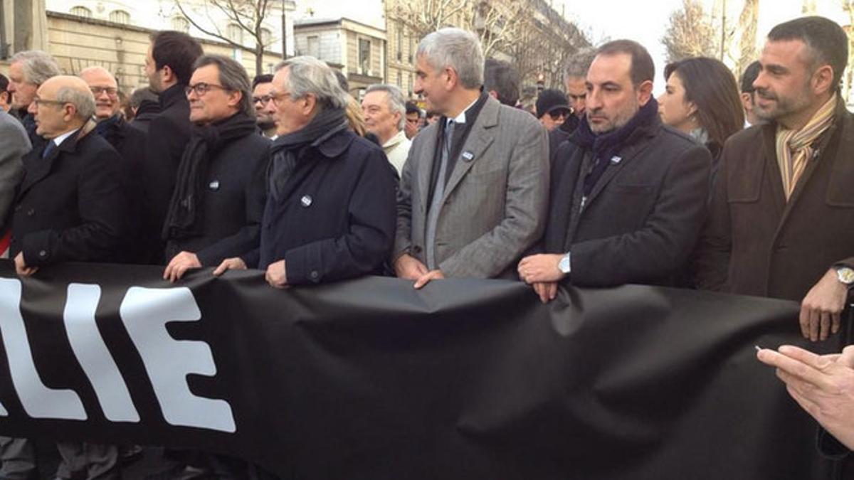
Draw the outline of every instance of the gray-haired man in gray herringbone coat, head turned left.
[[[483,50],[443,28],[418,44],[415,91],[442,114],[413,140],[397,201],[395,272],[421,288],[434,278],[495,278],[543,231],[545,129],[481,92]]]

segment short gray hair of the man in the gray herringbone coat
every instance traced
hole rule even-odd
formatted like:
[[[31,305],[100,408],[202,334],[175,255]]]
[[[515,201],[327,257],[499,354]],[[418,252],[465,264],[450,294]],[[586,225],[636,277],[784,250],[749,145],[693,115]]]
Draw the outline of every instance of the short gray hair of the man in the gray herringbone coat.
[[[417,56],[424,56],[431,67],[453,68],[459,83],[467,89],[483,85],[483,49],[472,32],[461,28],[442,28],[421,39]]]

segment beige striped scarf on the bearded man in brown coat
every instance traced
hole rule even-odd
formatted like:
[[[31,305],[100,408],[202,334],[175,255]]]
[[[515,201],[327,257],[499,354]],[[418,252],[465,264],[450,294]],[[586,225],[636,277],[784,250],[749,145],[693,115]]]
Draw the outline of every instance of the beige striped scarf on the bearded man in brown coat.
[[[833,124],[835,109],[836,95],[818,109],[804,128],[787,130],[781,125],[777,126],[777,164],[780,166],[786,200],[792,196],[798,179],[804,174],[806,164],[813,156],[812,144]]]

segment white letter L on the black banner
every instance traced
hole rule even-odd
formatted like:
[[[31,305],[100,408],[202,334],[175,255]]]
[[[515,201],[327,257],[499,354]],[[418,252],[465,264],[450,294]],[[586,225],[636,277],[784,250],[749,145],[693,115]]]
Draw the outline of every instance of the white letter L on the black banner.
[[[49,389],[38,377],[20,316],[20,280],[15,278],[0,278],[0,333],[12,384],[26,413],[34,419],[85,420],[83,402],[73,390]]]

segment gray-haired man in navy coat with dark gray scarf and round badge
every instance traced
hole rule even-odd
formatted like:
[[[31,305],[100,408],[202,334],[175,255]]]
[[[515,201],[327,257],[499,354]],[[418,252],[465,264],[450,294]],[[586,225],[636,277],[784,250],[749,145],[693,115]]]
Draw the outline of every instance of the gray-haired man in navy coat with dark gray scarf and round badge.
[[[347,128],[347,95],[323,61],[292,58],[273,78],[273,142],[260,249],[214,272],[257,266],[276,288],[382,272],[395,240],[394,167]]]

